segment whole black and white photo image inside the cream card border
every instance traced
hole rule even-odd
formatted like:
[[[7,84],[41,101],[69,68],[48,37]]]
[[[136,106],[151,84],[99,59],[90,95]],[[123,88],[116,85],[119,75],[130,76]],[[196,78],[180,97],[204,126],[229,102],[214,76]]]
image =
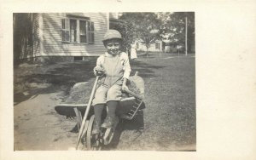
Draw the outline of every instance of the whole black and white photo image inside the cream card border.
[[[195,18],[13,13],[14,151],[196,151]]]

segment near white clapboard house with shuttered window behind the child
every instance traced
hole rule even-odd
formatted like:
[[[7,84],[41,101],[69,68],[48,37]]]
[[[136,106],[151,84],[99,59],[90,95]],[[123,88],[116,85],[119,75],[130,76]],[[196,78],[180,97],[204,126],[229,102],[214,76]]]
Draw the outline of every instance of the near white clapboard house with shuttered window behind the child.
[[[88,60],[105,52],[108,13],[14,14],[14,60]]]

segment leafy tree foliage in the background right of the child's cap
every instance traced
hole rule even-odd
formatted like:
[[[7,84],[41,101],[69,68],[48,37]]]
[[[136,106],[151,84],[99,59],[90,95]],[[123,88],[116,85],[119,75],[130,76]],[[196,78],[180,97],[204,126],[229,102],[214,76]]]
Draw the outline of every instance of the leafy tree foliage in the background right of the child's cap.
[[[161,12],[161,13],[123,13],[121,23],[111,26],[121,32],[125,40],[125,48],[129,48],[135,39],[142,40],[146,48],[150,47],[161,34],[170,33],[173,44],[185,44],[185,19],[188,22],[188,48],[195,44],[194,12]]]

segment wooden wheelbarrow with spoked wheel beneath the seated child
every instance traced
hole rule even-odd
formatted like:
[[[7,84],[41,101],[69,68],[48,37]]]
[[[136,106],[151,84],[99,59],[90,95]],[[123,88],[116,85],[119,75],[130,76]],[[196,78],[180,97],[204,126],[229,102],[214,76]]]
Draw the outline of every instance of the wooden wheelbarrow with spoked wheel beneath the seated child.
[[[96,77],[88,104],[59,104],[55,106],[55,111],[59,114],[67,116],[68,113],[68,116],[76,117],[77,119],[79,127],[79,136],[76,144],[77,150],[80,144],[86,146],[87,150],[101,150],[102,146],[107,146],[113,140],[113,133],[120,119],[132,120],[137,115],[142,115],[143,109],[145,108],[141,94],[136,94],[131,90],[125,90],[125,93],[130,96],[119,101],[113,128],[101,129],[100,134],[91,134],[95,116],[90,106],[95,94],[98,78]],[[135,81],[136,85],[139,86],[140,93],[144,93],[143,78],[138,77],[136,73],[134,77],[131,77],[131,80]]]

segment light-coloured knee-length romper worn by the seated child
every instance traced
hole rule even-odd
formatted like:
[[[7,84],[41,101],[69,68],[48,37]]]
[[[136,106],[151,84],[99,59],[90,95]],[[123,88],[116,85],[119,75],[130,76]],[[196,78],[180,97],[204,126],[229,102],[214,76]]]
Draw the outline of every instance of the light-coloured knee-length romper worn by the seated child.
[[[120,55],[123,54],[121,57]],[[121,100],[121,89],[124,81],[124,72],[131,72],[128,56],[125,53],[120,53],[115,57],[104,56],[104,61],[101,64],[105,71],[105,75],[100,77],[99,88],[96,89],[96,94],[92,105],[105,104],[110,100]],[[127,58],[126,58],[127,56]],[[127,59],[126,61],[124,60]],[[124,63],[125,66],[124,66]],[[128,64],[127,64],[128,63]],[[129,76],[128,76],[129,77]],[[127,76],[126,76],[127,78]]]

